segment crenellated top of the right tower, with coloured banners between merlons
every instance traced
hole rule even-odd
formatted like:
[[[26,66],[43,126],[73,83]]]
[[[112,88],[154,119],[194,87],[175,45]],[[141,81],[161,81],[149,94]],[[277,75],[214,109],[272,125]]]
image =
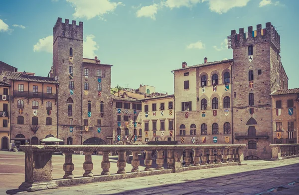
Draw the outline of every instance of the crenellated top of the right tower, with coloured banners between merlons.
[[[240,28],[239,34],[236,30],[231,30],[231,41],[233,49],[271,41],[280,52],[280,35],[271,22],[267,22],[264,29],[262,28],[262,24],[257,24],[256,30],[253,30],[252,26],[248,26],[247,32],[244,31],[244,28]]]

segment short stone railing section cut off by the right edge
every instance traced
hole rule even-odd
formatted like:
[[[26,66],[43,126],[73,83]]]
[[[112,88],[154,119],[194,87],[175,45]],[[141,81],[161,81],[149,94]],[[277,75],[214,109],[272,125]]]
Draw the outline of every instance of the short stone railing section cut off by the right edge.
[[[273,161],[299,157],[299,144],[270,144],[270,147]]]

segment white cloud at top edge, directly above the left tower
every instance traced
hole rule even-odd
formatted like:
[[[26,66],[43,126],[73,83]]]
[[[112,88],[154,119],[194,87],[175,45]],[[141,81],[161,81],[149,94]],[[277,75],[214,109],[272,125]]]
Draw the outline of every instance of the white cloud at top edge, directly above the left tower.
[[[66,0],[75,7],[75,18],[91,19],[96,16],[100,18],[104,14],[113,12],[118,5],[124,5],[122,2],[110,2],[110,0]]]

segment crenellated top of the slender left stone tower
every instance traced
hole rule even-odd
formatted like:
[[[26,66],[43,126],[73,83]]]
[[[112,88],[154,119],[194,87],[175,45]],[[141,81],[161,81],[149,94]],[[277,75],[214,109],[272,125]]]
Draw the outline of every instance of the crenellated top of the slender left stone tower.
[[[76,25],[76,20],[72,20],[69,23],[69,19],[65,19],[62,22],[62,18],[58,17],[55,26],[53,27],[53,43],[57,37],[71,38],[77,40],[83,40],[83,22],[80,21],[79,25]]]

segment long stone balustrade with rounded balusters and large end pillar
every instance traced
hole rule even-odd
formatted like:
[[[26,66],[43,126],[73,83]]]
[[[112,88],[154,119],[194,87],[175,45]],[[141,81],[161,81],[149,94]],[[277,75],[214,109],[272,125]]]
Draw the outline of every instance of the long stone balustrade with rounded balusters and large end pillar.
[[[111,181],[125,178],[144,177],[149,175],[177,173],[182,171],[206,169],[213,167],[244,165],[243,148],[246,145],[29,145],[20,146],[25,152],[25,182],[19,187],[28,192],[53,189],[59,186],[86,184],[92,182]],[[74,178],[74,164],[72,155],[76,151],[83,151],[85,162],[83,177]],[[103,154],[102,173],[94,176],[92,173],[92,154],[94,151]],[[140,170],[140,151],[145,152],[145,169]],[[152,151],[156,152],[156,166],[152,166]],[[183,166],[183,151],[185,151]],[[63,179],[52,180],[52,153],[63,152]],[[118,153],[117,173],[110,173],[109,154]],[[133,154],[132,170],[126,173],[126,153]],[[191,162],[191,152],[194,152]],[[164,153],[164,155],[163,155]],[[193,154],[193,153],[192,153]],[[212,155],[211,155],[212,154]],[[163,167],[164,157],[167,166]],[[113,164],[115,165],[115,164]]]

